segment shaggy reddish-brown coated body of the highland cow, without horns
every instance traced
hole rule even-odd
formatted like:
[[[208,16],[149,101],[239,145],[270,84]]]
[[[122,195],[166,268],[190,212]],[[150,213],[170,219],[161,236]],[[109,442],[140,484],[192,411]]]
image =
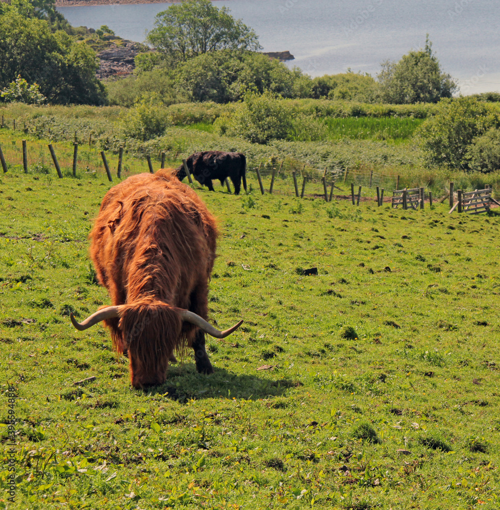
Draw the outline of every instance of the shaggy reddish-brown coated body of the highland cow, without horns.
[[[173,351],[187,346],[196,369],[213,372],[203,332],[179,309],[207,319],[216,238],[214,217],[174,170],[134,175],[106,193],[90,256],[112,303],[123,305],[105,322],[116,351],[128,351],[135,388],[162,384]]]

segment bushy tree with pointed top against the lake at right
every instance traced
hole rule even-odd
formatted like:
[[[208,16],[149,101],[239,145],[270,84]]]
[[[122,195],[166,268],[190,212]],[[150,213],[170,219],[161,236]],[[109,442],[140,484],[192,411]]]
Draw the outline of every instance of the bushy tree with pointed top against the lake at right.
[[[382,100],[398,105],[437,103],[442,97],[452,97],[457,90],[456,82],[442,72],[432,53],[429,34],[424,49],[412,50],[399,62],[384,62],[377,78]]]

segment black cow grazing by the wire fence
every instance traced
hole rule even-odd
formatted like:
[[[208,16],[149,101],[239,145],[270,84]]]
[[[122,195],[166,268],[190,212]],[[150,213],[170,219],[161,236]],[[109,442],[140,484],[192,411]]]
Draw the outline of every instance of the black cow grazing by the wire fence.
[[[207,150],[195,152],[186,160],[189,171],[199,184],[208,186],[214,191],[212,179],[218,179],[220,184],[229,177],[233,182],[234,193],[239,195],[241,181],[246,191],[246,158],[241,152],[223,152],[221,150]],[[177,177],[180,181],[186,176],[184,166],[177,168]]]

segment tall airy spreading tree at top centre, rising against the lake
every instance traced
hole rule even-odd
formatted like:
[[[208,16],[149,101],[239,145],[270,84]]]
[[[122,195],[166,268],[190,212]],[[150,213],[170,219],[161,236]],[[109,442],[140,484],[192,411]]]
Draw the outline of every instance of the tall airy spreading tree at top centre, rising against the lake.
[[[229,12],[210,0],[186,0],[156,15],[147,40],[173,63],[218,49],[259,49],[255,32]]]

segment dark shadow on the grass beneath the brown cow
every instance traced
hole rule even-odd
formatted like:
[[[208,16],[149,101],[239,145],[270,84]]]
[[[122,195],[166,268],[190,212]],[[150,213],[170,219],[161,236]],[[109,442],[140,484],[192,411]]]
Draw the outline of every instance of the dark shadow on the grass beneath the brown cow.
[[[280,397],[291,388],[301,386],[292,379],[261,377],[249,374],[235,374],[224,368],[215,368],[210,375],[198,374],[194,365],[170,367],[166,381],[145,391],[149,395],[163,394],[166,398],[184,403],[190,399],[204,398],[237,398],[258,400],[262,398]]]

